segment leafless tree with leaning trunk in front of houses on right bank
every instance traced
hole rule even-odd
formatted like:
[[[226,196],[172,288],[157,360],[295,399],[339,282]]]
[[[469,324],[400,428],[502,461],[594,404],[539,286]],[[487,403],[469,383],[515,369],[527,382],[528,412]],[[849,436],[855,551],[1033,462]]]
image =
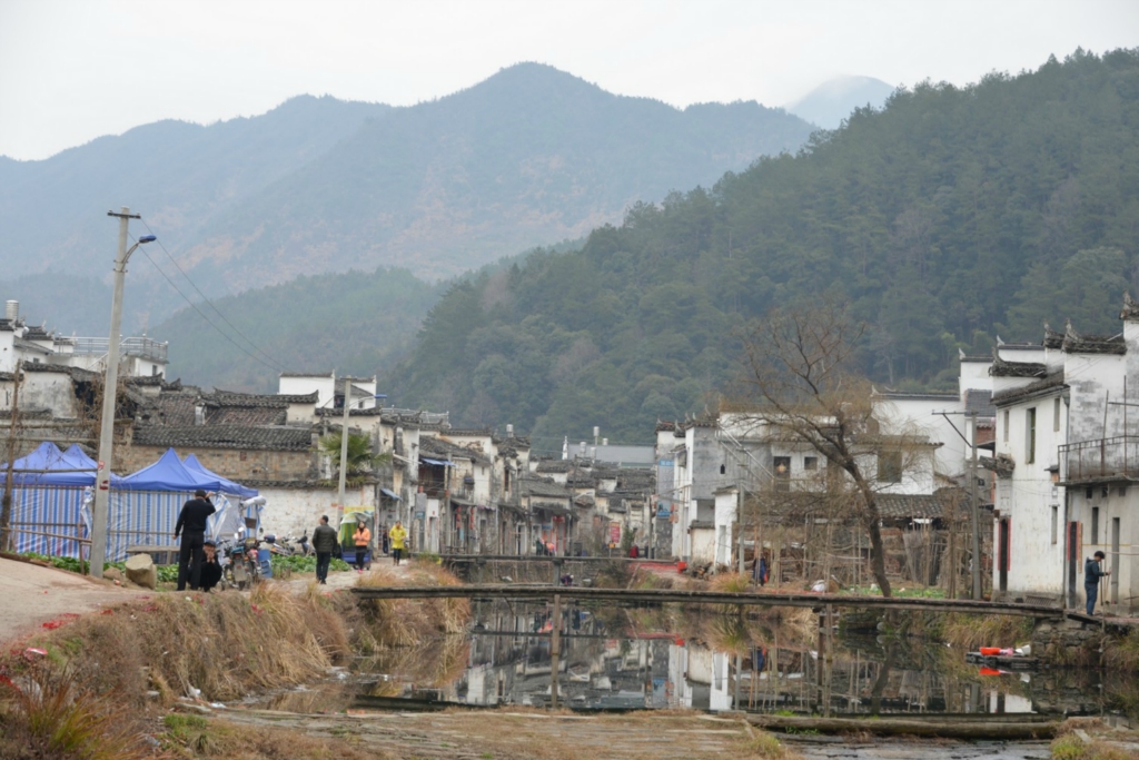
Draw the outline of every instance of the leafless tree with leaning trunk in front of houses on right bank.
[[[928,447],[913,435],[879,431],[870,383],[853,368],[863,333],[843,305],[775,310],[744,337],[743,384],[747,417],[765,427],[768,440],[813,449],[833,474],[842,474],[828,477],[826,493],[818,496],[839,499],[841,512],[861,524],[870,540],[871,572],[883,596],[891,596],[879,491],[896,483]]]

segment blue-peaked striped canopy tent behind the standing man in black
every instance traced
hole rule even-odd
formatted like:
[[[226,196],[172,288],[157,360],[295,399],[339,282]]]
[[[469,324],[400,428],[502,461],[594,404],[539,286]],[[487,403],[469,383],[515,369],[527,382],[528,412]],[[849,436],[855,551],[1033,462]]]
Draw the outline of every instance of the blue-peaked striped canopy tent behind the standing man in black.
[[[110,493],[107,556],[123,559],[132,546],[174,547],[174,525],[182,505],[194,498],[194,491],[215,491],[215,505],[222,512],[235,498],[256,496],[256,491],[235,483],[202,466],[182,461],[174,449],[167,449],[157,461],[124,476]]]

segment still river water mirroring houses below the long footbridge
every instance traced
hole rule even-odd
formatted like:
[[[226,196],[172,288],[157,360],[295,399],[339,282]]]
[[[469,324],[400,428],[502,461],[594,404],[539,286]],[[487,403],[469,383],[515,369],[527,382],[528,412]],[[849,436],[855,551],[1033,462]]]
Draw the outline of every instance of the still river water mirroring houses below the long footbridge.
[[[550,706],[552,610],[546,604],[481,602],[466,636],[360,659],[338,673],[339,706],[378,710],[442,706]],[[560,610],[559,706],[587,711],[694,709],[797,716],[926,717],[1032,721],[1046,716],[1139,718],[1139,685],[1098,670],[990,670],[943,643],[875,634],[819,635],[813,619],[590,607]],[[826,652],[830,656],[826,656]],[[261,701],[318,712],[320,689]],[[1129,714],[1129,712],[1131,714]],[[998,717],[1002,716],[1002,717]],[[1131,722],[1134,725],[1134,722]],[[906,743],[788,737],[809,758],[1043,759],[1048,745]]]

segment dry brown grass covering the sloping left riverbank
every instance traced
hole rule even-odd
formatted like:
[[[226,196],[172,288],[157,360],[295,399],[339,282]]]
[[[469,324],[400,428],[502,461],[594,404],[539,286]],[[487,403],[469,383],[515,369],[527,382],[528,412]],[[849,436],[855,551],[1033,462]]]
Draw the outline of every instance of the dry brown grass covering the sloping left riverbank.
[[[417,564],[407,578],[376,571],[361,582],[458,580]],[[248,595],[155,594],[46,624],[43,634],[0,656],[0,757],[153,757],[164,733],[157,721],[171,706],[311,683],[360,652],[405,647],[409,662],[420,661],[423,647],[469,621],[466,600],[358,603],[351,594],[321,589],[313,583],[296,593],[264,582]],[[458,652],[439,659],[451,662],[451,670],[465,662]],[[213,754],[211,746],[196,751]],[[238,757],[277,755],[267,750]]]

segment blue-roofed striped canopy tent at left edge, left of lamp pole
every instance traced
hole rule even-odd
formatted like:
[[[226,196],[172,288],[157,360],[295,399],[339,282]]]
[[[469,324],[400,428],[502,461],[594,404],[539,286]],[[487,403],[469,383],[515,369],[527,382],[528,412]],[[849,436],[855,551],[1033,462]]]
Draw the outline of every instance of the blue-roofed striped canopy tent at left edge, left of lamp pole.
[[[77,539],[87,538],[90,530],[90,512],[84,510],[84,504],[95,487],[97,467],[77,444],[60,451],[50,441],[13,463],[11,528],[16,551],[80,556]],[[0,473],[7,472],[8,463],[0,465]],[[112,474],[112,488],[121,482]]]

